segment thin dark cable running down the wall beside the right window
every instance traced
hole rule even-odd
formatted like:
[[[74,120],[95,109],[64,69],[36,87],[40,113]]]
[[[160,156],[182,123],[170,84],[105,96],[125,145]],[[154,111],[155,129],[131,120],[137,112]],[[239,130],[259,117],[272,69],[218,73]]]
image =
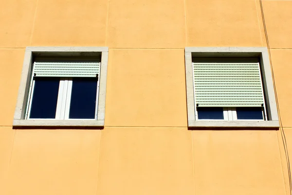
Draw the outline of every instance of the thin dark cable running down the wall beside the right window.
[[[273,70],[273,63],[272,63],[272,57],[271,57],[271,50],[270,50],[270,44],[269,44],[269,38],[268,38],[268,33],[267,33],[267,28],[266,28],[265,17],[264,17],[262,0],[259,0],[259,4],[260,4],[261,16],[262,16],[262,20],[263,20],[265,37],[266,37],[266,41],[267,41],[267,47],[268,47],[269,58],[270,58],[270,63],[271,63],[271,70],[272,70],[273,82],[275,82],[275,79],[274,79],[274,70]],[[275,88],[275,83],[274,83],[274,91],[275,91],[275,96],[276,96],[275,98],[276,98],[277,109],[279,110],[278,96],[277,96],[277,90]],[[286,160],[287,160],[290,195],[292,195],[292,181],[291,181],[290,159],[289,159],[287,141],[286,141],[286,136],[285,136],[285,132],[284,132],[284,129],[283,129],[283,124],[282,124],[282,120],[281,120],[280,113],[279,113],[279,121],[280,121],[280,124],[281,124],[281,126],[280,126],[280,132],[281,132],[282,142],[283,142],[283,145],[284,145],[284,151],[285,151],[285,156],[286,156]]]

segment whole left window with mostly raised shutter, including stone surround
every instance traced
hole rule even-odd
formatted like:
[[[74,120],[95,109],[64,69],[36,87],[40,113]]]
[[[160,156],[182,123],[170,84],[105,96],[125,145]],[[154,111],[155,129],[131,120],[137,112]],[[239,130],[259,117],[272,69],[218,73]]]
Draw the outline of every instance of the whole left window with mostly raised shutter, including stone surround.
[[[108,48],[28,47],[14,126],[103,126]]]

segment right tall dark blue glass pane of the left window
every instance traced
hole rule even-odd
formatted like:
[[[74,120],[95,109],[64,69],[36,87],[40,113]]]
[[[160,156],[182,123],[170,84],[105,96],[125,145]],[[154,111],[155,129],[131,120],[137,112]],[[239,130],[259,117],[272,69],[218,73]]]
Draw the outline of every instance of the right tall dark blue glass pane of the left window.
[[[94,119],[97,78],[73,78],[70,119]]]

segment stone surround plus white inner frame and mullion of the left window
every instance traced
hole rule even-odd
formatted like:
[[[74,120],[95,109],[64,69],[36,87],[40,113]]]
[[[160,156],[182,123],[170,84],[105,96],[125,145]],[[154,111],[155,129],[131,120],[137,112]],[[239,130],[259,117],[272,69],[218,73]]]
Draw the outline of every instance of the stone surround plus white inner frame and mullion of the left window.
[[[105,100],[108,69],[108,47],[27,47],[18,90],[13,126],[90,126],[103,127],[105,121]],[[94,119],[69,119],[72,78],[60,79],[56,118],[30,119],[30,107],[35,81],[32,68],[35,57],[53,58],[101,58],[100,74],[97,81],[96,107]]]

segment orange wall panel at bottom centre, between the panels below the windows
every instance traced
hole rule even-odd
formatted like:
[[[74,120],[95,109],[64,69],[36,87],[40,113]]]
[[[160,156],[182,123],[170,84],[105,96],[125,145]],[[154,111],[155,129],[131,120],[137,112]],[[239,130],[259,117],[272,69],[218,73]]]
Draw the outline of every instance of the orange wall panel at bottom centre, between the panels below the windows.
[[[99,195],[193,195],[191,131],[108,127],[102,132]]]

